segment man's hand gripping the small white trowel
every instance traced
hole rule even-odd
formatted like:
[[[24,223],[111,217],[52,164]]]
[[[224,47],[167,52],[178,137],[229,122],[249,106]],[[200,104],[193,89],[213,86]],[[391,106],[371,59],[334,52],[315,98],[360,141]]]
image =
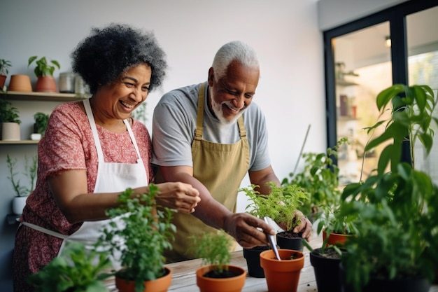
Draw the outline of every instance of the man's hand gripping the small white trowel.
[[[271,225],[247,213],[230,214],[225,218],[223,229],[246,249],[266,245],[266,234],[276,234]]]

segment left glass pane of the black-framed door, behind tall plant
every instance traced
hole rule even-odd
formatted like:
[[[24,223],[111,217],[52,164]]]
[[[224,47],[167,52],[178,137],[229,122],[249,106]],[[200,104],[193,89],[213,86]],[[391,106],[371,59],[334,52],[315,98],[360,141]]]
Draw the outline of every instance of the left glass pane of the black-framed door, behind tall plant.
[[[390,55],[390,25],[383,22],[336,37],[332,41],[335,71],[339,183],[367,179],[377,167],[384,148],[365,153],[365,145],[378,133],[366,128],[379,120],[376,96],[393,84]]]

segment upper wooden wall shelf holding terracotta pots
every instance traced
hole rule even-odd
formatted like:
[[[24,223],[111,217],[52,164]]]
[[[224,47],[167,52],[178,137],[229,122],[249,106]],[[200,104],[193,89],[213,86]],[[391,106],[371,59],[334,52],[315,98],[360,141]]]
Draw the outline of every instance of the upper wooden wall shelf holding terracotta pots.
[[[0,97],[9,100],[35,100],[38,102],[71,102],[83,100],[89,96],[75,95],[74,93],[53,93],[53,92],[0,92]]]

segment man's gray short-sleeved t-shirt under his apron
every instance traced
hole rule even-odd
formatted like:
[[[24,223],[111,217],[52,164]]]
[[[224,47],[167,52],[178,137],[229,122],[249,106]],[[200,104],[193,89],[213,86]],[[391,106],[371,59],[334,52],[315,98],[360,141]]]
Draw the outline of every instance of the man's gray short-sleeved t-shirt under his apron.
[[[160,166],[193,166],[192,141],[197,121],[198,92],[202,83],[167,92],[158,102],[153,114],[153,158]],[[207,97],[207,89],[205,97]],[[243,112],[246,137],[250,151],[250,169],[269,167],[268,134],[264,114],[255,102]],[[239,141],[237,123],[224,125],[209,111],[204,101],[203,139],[219,144]]]

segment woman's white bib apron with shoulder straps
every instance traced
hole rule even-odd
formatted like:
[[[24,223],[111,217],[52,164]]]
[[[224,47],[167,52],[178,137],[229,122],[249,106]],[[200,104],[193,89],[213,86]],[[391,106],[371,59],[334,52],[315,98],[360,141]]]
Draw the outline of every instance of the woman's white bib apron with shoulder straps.
[[[138,160],[134,164],[129,163],[115,163],[115,162],[105,162],[104,153],[102,152],[99,135],[97,134],[96,123],[94,123],[94,117],[90,106],[90,101],[85,99],[83,101],[85,106],[85,112],[87,113],[88,121],[90,122],[90,127],[92,129],[94,143],[96,145],[97,157],[98,157],[98,167],[97,167],[97,179],[94,186],[94,193],[114,193],[122,192],[126,188],[138,188],[141,186],[146,186],[148,184],[148,174],[146,173],[146,168],[141,160],[139,147],[137,146],[134,133],[131,130],[127,120],[124,120],[129,136],[131,137],[132,144],[136,150]],[[92,194],[93,195],[93,194]],[[112,219],[118,225],[123,225],[120,218]],[[73,232],[71,235],[63,235],[59,232],[54,232],[42,228],[31,223],[23,222],[23,225],[27,225],[30,228],[34,228],[48,235],[52,235],[61,239],[64,239],[59,249],[58,254],[62,253],[66,242],[83,242],[87,249],[94,249],[93,244],[97,242],[101,235],[101,230],[104,226],[108,225],[110,219],[100,220],[100,221],[85,221],[82,223],[80,228]],[[120,263],[118,256],[112,258],[113,268],[115,270],[120,269]]]

